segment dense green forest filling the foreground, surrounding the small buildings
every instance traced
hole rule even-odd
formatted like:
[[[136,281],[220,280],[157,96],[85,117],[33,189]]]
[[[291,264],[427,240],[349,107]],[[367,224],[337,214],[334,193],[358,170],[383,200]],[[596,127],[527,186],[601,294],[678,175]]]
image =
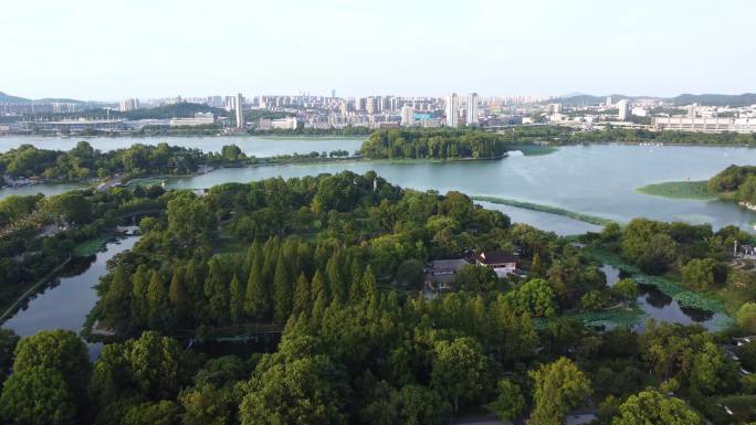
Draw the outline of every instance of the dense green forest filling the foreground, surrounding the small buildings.
[[[112,191],[101,196],[127,196]],[[588,408],[595,424],[756,421],[756,375],[743,373],[756,342],[728,342],[756,332],[753,281],[724,332],[573,315],[630,308],[638,294],[632,278],[607,286],[589,248],[703,293],[735,285],[728,244],[749,237],[737,229],[637,220],[581,247],[375,172],[138,195],[161,212],[97,286],[88,326],[111,332],[101,355],[90,363],[69,331],[0,331],[0,370],[12,372],[0,378],[0,418],[388,425],[490,412],[557,425]],[[429,259],[481,251],[516,254],[521,273],[470,265],[453,290],[428,290]],[[277,344],[239,342],[260,334]]]

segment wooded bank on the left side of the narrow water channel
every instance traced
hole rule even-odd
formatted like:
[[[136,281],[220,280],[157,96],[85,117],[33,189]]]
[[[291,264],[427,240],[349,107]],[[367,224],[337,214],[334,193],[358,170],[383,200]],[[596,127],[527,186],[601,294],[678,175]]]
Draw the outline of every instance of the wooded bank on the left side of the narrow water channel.
[[[71,256],[93,255],[125,215],[162,210],[162,193],[154,187],[0,200],[0,212],[12,212],[0,227],[0,314]]]

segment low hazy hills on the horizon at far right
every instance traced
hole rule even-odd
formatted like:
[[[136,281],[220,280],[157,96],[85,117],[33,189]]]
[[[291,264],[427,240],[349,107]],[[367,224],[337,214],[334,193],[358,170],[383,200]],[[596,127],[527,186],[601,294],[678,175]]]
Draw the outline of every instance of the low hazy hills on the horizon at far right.
[[[756,105],[756,93],[744,93],[742,95],[717,95],[717,94],[703,94],[703,95],[692,95],[682,94],[675,97],[660,97],[660,96],[626,96],[613,94],[611,96],[612,102],[621,99],[640,99],[640,98],[658,98],[670,102],[674,105],[691,105],[699,104],[705,106],[749,106]],[[592,96],[579,93],[574,93],[569,95],[564,95],[557,98],[563,105],[566,106],[588,106],[588,105],[599,105],[607,100],[607,96]],[[554,102],[554,100],[549,100]]]

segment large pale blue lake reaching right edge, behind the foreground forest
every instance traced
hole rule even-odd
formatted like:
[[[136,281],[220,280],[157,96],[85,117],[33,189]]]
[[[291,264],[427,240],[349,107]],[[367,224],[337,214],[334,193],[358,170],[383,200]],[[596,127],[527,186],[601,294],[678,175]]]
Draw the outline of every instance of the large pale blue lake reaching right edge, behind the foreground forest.
[[[229,168],[191,178],[169,179],[171,188],[210,188],[282,176],[303,177],[343,170],[375,170],[389,182],[419,190],[461,191],[563,208],[628,222],[645,216],[664,221],[735,224],[753,232],[756,213],[734,203],[673,200],[637,193],[662,181],[704,180],[732,163],[756,163],[756,149],[725,147],[641,147],[591,145],[559,148],[544,156],[492,161],[363,161],[277,167]]]

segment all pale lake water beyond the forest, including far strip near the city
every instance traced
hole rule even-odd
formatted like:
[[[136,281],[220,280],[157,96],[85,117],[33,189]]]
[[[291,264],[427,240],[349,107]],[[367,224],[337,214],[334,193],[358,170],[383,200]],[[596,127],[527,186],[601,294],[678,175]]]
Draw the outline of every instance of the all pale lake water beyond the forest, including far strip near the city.
[[[90,138],[98,149],[113,149],[133,142],[191,146],[220,150],[237,144],[249,155],[271,156],[312,150],[346,149],[354,151],[364,138],[328,137],[146,137]],[[54,137],[0,137],[0,148],[22,142],[46,148],[70,148],[78,139]],[[715,229],[735,224],[754,232],[756,212],[734,203],[701,200],[673,200],[637,193],[638,187],[663,181],[704,180],[727,166],[756,163],[756,149],[731,147],[634,145],[567,146],[543,156],[518,156],[492,161],[351,161],[312,164],[266,166],[219,169],[208,174],[167,180],[170,188],[210,188],[224,182],[248,182],[271,177],[303,177],[351,170],[377,171],[389,182],[419,190],[440,192],[458,190],[468,194],[514,199],[563,208],[569,211],[628,222],[645,216],[664,221],[711,223]],[[56,193],[59,184],[0,190],[0,198],[11,193]],[[548,213],[486,203],[525,222],[559,234],[597,230],[575,220]]]

